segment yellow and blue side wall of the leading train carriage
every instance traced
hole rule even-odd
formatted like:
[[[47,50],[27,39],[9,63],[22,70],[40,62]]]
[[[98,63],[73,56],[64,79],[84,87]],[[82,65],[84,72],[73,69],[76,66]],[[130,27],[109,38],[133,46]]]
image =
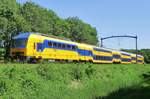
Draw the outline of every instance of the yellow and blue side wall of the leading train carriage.
[[[51,45],[52,42],[53,45]],[[43,44],[43,46],[40,48],[38,44]],[[75,44],[74,42],[58,40],[41,35],[31,35],[27,49],[32,50],[28,51],[28,56],[35,56],[36,58],[42,59],[79,60],[78,53],[71,49]],[[33,46],[35,46],[35,48]],[[66,50],[66,47],[68,50]]]

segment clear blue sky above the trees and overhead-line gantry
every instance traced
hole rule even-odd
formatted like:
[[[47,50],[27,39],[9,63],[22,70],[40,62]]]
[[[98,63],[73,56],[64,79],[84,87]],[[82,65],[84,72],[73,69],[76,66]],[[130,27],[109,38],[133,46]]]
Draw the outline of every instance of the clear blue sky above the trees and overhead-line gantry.
[[[17,0],[23,4],[29,0]],[[61,18],[77,16],[91,24],[99,37],[138,36],[138,49],[150,48],[150,0],[31,0]],[[132,38],[104,41],[112,49],[135,49]]]

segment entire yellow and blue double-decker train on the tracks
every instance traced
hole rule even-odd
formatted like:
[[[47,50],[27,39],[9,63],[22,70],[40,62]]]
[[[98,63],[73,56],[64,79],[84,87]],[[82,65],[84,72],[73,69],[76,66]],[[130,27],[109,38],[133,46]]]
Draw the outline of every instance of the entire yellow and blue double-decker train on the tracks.
[[[41,33],[20,33],[12,38],[13,59],[38,62],[71,61],[97,64],[144,64],[144,57],[124,51],[77,43],[69,39]]]

